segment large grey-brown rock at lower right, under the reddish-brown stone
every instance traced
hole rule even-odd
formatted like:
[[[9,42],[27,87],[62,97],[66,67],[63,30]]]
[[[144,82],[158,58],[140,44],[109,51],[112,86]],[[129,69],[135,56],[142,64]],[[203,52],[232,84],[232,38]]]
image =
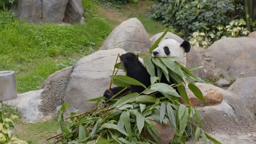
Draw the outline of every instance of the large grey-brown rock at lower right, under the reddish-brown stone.
[[[255,116],[246,108],[246,103],[238,95],[212,86],[223,94],[219,105],[198,107],[203,129],[208,133],[227,135],[253,133]]]

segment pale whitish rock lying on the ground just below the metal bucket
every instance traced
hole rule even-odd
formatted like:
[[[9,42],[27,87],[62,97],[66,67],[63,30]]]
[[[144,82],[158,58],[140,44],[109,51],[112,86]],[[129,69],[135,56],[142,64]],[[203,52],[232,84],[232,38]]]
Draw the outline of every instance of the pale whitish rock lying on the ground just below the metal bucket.
[[[21,117],[27,122],[37,122],[43,117],[43,113],[39,111],[38,106],[41,104],[40,94],[43,89],[18,94],[18,98],[3,101],[4,104],[18,107]]]

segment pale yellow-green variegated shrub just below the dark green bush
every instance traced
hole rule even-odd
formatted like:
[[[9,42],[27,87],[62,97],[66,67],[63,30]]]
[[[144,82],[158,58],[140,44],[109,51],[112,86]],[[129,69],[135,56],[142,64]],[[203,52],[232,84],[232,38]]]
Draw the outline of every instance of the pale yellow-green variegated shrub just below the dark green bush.
[[[212,27],[205,31],[196,31],[192,34],[190,43],[194,47],[209,47],[214,41],[225,37],[242,37],[249,34],[246,22],[243,19],[232,20],[227,26]]]

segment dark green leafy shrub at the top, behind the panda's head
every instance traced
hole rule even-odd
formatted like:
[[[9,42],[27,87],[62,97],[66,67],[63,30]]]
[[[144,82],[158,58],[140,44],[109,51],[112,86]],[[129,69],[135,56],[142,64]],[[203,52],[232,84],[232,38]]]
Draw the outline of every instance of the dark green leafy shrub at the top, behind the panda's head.
[[[204,32],[213,26],[228,25],[229,15],[235,10],[230,0],[184,0],[177,4],[174,0],[160,0],[153,5],[150,15],[171,26],[188,37],[195,31]]]

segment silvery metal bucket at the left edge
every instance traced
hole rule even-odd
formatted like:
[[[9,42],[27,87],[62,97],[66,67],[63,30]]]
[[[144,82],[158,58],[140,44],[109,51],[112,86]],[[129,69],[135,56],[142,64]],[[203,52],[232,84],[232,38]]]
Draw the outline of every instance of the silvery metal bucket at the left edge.
[[[0,101],[17,98],[14,71],[0,71]]]

